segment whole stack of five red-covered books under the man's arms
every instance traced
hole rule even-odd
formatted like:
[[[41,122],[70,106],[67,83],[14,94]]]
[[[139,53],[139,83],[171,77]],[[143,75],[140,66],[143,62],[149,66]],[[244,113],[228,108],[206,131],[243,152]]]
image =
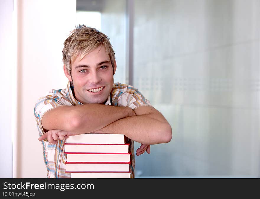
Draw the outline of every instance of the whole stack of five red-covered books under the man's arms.
[[[130,144],[125,135],[80,134],[64,144],[71,178],[130,178]]]

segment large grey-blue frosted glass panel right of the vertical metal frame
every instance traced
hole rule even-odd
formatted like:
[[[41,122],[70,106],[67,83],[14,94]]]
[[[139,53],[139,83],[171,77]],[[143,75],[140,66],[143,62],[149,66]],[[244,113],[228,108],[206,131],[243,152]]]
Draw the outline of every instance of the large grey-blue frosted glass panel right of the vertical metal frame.
[[[134,86],[173,129],[137,177],[259,177],[260,1],[134,4]]]

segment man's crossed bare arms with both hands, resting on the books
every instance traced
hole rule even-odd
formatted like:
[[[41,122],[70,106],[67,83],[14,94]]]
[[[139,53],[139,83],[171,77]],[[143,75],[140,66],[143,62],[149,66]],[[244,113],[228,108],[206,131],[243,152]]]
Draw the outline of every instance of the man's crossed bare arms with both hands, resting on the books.
[[[172,138],[170,124],[151,106],[139,106],[132,110],[129,107],[99,104],[63,105],[47,111],[41,123],[48,132],[39,140],[48,137],[48,142],[56,143],[58,139],[83,133],[125,134],[144,144],[138,149],[140,154],[145,150],[150,153],[151,144],[170,142]]]

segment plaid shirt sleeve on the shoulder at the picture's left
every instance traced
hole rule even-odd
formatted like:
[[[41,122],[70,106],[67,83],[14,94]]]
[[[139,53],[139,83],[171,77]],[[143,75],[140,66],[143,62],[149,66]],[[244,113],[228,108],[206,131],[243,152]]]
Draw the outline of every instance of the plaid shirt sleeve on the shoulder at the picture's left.
[[[41,119],[48,110],[51,110],[53,108],[62,105],[72,106],[72,103],[69,102],[69,100],[66,97],[64,97],[62,94],[58,94],[58,93],[56,94],[48,93],[48,94],[49,95],[39,98],[34,107],[34,116],[37,122],[38,131],[40,135],[43,135],[45,133],[43,126],[41,125]]]

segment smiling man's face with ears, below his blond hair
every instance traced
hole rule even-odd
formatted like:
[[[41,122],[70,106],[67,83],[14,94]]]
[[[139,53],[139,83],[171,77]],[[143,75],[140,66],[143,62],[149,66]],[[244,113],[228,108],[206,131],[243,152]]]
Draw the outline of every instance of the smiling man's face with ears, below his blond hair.
[[[114,67],[116,71],[116,64]],[[99,46],[71,64],[71,76],[64,69],[69,81],[73,81],[75,98],[82,104],[104,104],[113,83],[113,68],[103,46]]]

